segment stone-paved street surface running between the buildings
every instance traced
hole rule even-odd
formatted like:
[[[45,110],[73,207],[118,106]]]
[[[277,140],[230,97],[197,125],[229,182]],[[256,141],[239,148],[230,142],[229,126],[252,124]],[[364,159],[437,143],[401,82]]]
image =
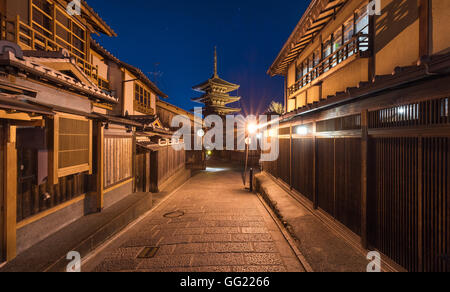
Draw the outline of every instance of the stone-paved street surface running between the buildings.
[[[184,212],[178,218],[165,214]],[[173,214],[175,215],[175,214]],[[145,247],[154,258],[138,259]],[[301,272],[303,268],[238,171],[209,168],[102,251],[83,271]]]

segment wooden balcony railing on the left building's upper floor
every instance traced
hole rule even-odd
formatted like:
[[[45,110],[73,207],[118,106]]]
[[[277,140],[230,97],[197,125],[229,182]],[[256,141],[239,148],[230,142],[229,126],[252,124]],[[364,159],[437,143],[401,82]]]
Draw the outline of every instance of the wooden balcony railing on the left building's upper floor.
[[[25,46],[31,50],[58,51],[66,49],[58,44],[56,40],[49,38],[42,32],[33,29],[31,26],[21,21],[19,15],[17,15],[15,20],[7,20],[3,15],[0,15],[0,18],[2,39],[15,42],[18,45]],[[48,32],[48,34],[50,35],[51,32]],[[98,84],[98,67],[78,56],[76,52],[68,51],[78,67]]]

